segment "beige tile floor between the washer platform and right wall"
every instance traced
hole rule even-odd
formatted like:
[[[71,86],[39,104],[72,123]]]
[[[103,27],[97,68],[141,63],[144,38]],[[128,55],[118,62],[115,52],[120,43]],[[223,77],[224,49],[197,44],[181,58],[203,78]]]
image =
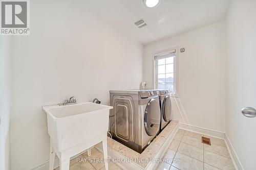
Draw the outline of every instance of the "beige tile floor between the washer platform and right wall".
[[[201,137],[210,138],[211,145]],[[235,169],[223,139],[179,129],[164,157],[177,161],[161,163],[158,170],[231,170]],[[179,160],[179,161],[178,161]]]

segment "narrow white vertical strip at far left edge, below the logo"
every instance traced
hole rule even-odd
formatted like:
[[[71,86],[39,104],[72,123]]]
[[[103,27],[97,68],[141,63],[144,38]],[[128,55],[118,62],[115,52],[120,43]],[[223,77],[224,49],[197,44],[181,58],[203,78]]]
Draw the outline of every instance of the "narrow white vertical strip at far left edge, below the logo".
[[[9,169],[9,38],[0,37],[0,169]]]

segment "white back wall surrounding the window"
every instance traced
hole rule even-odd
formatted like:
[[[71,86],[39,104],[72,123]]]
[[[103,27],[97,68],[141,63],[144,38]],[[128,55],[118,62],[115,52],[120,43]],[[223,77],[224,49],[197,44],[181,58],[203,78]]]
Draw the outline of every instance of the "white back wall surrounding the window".
[[[154,53],[175,46],[185,48],[184,53],[178,51],[179,98],[172,101],[173,119],[225,132],[225,41],[222,21],[144,46],[143,80],[147,88],[154,87]]]

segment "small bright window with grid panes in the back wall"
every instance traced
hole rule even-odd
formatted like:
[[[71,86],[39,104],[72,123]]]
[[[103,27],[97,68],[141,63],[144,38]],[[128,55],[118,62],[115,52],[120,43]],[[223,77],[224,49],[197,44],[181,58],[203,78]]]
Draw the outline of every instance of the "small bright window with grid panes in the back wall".
[[[155,87],[167,89],[176,94],[176,53],[175,50],[155,55]]]

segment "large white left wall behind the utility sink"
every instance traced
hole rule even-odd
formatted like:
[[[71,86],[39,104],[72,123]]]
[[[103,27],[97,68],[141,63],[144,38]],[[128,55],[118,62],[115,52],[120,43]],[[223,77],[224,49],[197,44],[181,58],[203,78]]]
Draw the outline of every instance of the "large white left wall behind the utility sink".
[[[138,88],[142,81],[143,46],[104,23],[86,1],[30,3],[30,36],[12,39],[12,170],[49,159],[41,106],[71,95],[109,104],[109,90]]]

